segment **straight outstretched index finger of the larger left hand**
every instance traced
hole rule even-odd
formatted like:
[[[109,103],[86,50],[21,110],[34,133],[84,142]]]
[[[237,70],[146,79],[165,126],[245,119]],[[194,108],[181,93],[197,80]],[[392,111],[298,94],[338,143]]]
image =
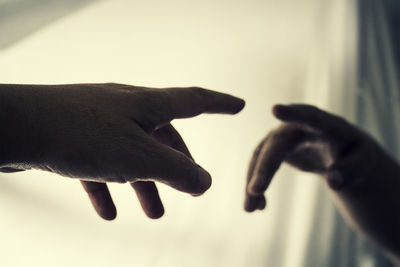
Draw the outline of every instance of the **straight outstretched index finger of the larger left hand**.
[[[156,108],[161,121],[189,118],[202,113],[236,114],[245,105],[243,99],[199,87],[157,90],[162,101]]]

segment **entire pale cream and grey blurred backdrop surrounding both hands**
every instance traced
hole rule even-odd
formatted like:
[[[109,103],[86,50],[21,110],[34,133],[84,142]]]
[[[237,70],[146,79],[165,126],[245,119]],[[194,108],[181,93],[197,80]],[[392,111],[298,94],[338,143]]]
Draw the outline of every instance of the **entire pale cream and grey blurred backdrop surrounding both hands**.
[[[159,185],[159,220],[128,185],[110,185],[118,216],[107,222],[76,180],[0,174],[0,266],[391,266],[344,224],[314,175],[283,166],[267,209],[243,210],[253,149],[279,125],[273,104],[345,116],[398,155],[394,24],[384,3],[397,5],[0,0],[0,83],[201,86],[247,102],[236,116],[173,122],[213,185],[196,198]]]

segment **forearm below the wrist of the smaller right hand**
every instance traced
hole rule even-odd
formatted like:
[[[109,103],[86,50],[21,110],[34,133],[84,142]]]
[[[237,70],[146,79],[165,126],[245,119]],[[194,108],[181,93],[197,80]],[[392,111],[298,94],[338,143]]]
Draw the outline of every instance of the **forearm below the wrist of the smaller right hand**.
[[[384,153],[374,177],[335,192],[347,221],[400,259],[400,167]]]

